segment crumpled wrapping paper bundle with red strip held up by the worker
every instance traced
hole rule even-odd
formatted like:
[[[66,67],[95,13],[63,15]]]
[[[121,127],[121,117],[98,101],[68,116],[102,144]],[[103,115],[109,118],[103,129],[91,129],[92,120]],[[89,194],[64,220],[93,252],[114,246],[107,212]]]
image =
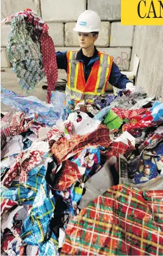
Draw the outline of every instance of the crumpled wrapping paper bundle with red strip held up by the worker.
[[[13,64],[20,85],[31,90],[43,77],[48,80],[48,103],[56,86],[58,72],[54,42],[48,25],[31,9],[4,18],[1,25],[12,20],[7,42],[7,56]]]

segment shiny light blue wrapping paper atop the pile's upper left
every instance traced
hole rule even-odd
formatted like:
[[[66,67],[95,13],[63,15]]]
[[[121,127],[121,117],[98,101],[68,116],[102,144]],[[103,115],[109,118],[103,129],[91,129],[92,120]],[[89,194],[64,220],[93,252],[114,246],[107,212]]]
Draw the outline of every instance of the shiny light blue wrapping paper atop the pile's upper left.
[[[65,93],[52,93],[53,104],[46,104],[35,96],[21,96],[13,91],[1,87],[1,101],[7,106],[15,107],[16,110],[24,112],[27,117],[37,114],[36,121],[46,126],[53,126],[58,119],[65,120]]]

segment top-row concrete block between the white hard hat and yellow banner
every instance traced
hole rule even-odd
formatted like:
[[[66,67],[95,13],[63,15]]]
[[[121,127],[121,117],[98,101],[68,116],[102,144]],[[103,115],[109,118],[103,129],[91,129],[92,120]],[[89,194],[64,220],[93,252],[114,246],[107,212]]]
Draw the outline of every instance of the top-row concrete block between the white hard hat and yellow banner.
[[[95,10],[101,20],[120,20],[120,0],[88,0],[88,9]]]

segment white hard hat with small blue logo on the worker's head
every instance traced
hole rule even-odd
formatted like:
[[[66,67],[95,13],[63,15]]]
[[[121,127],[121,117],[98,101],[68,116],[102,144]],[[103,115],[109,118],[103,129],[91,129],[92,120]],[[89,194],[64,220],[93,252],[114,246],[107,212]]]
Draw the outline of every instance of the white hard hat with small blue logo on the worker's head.
[[[100,17],[94,10],[85,10],[79,15],[76,26],[73,29],[77,32],[90,33],[100,31]]]

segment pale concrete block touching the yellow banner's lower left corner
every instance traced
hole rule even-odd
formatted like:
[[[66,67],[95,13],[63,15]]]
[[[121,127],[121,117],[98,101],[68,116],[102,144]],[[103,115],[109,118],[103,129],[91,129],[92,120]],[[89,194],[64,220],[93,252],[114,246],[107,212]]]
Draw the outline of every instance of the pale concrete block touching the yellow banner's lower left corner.
[[[111,25],[110,47],[131,47],[134,35],[134,26],[122,26],[120,22]]]

